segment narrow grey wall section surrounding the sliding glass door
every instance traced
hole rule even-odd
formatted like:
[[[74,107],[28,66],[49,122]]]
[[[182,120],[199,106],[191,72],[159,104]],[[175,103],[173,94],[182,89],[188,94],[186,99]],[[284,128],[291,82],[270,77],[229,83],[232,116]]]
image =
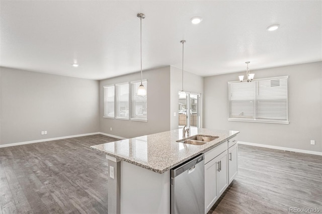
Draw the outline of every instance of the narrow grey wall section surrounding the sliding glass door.
[[[184,90],[201,94],[201,127],[203,127],[203,77],[184,71]],[[179,95],[182,90],[182,69],[171,66],[171,130],[179,127]],[[174,116],[176,113],[176,116]]]

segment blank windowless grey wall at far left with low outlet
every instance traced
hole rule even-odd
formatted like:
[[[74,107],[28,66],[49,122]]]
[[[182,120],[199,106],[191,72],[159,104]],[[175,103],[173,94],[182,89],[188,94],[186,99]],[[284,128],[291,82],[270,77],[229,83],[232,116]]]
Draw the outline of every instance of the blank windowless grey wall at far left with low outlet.
[[[0,145],[99,131],[98,81],[5,67],[0,72]]]

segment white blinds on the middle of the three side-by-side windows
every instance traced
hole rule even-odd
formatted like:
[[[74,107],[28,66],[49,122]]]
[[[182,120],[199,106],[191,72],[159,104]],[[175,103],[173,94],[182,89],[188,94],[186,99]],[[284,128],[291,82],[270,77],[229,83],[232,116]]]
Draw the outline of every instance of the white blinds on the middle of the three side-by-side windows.
[[[116,118],[129,119],[129,83],[116,85]]]

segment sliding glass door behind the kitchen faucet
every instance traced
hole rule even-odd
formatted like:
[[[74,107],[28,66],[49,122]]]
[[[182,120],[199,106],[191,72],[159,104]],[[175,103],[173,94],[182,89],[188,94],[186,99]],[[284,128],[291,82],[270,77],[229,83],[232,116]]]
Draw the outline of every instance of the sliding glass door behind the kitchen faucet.
[[[179,95],[179,129],[184,126],[200,128],[200,93]]]

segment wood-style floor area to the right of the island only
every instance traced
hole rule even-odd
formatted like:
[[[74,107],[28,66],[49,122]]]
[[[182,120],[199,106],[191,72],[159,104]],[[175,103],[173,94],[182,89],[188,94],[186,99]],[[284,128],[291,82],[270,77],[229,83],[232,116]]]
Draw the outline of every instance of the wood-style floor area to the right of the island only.
[[[239,144],[238,175],[208,214],[294,213],[290,207],[322,212],[322,156]]]

